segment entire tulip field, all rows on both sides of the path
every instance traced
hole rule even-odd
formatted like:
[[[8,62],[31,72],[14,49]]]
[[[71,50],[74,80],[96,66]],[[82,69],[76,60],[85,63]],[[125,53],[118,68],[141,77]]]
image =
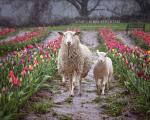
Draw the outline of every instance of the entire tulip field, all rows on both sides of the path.
[[[22,36],[3,41],[16,32],[0,29],[0,118],[16,116],[24,103],[57,74],[57,53],[61,36],[47,38],[47,28],[36,28]],[[113,61],[114,75],[133,94],[136,108],[150,112],[150,33],[133,30],[130,37],[136,47],[130,48],[117,39],[112,29],[97,30],[99,50],[108,51]]]

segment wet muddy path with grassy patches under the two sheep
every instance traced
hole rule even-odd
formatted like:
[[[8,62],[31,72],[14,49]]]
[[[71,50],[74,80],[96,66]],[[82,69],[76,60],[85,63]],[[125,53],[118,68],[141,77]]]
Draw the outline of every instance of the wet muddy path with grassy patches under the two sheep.
[[[54,33],[55,34],[55,33]],[[53,35],[51,35],[54,37]],[[51,37],[49,36],[48,39]],[[95,53],[99,46],[97,32],[83,32],[82,42],[88,45],[93,52],[93,62],[97,59]],[[82,95],[69,97],[69,86],[61,83],[61,78],[56,76],[48,82],[50,89],[42,89],[36,93],[22,112],[24,120],[140,120],[129,111],[129,94],[126,88],[114,77],[110,90],[106,95],[98,95],[95,81],[93,80],[93,67],[88,76],[82,81]],[[115,76],[115,75],[114,75]],[[43,102],[44,101],[44,102]],[[46,104],[45,108],[38,109],[34,104]],[[52,105],[49,106],[49,103]],[[41,109],[44,111],[41,111]]]

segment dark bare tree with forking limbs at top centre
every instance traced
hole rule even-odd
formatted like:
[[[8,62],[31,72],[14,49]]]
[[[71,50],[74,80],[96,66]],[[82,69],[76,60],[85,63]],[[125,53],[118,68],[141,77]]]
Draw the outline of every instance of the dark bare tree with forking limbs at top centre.
[[[77,9],[77,11],[82,17],[88,17],[88,15],[90,15],[91,12],[96,9],[101,0],[94,0],[96,2],[90,9],[88,8],[90,0],[66,0],[66,1],[70,2]]]

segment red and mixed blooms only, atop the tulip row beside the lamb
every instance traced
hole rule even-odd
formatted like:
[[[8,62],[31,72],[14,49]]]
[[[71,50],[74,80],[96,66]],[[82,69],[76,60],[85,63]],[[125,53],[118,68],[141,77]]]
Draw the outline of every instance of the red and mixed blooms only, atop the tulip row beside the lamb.
[[[143,51],[138,47],[131,49],[123,43],[117,41],[116,34],[109,29],[102,29],[100,31],[100,35],[103,40],[105,40],[108,49],[120,53],[118,55],[122,56],[123,60],[131,70],[136,72],[137,75],[144,72],[141,77],[145,80],[149,79],[147,75],[148,73],[145,69],[150,62],[148,52]]]

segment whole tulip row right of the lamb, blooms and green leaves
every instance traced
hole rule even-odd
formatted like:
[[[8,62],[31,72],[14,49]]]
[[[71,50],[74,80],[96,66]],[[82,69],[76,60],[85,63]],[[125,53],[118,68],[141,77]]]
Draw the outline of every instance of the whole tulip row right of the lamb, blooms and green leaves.
[[[150,53],[141,48],[129,48],[117,40],[116,34],[110,29],[99,32],[104,47],[113,60],[115,72],[129,90],[143,98],[145,107],[150,105]],[[147,108],[146,110],[149,110]]]

